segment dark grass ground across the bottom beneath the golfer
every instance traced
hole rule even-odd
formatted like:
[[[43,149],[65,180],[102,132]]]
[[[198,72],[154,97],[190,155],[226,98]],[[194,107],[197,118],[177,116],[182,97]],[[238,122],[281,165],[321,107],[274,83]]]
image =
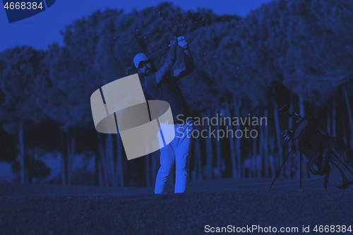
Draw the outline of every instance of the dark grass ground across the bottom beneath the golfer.
[[[301,191],[293,180],[269,186],[267,179],[201,181],[183,194],[154,195],[152,188],[1,184],[0,233],[205,234],[206,224],[313,229],[353,222],[352,189],[325,189],[321,179],[304,180]]]

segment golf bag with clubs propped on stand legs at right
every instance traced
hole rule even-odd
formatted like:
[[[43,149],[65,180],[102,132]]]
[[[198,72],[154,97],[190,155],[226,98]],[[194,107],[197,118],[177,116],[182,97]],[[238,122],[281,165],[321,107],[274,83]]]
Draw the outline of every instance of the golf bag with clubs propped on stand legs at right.
[[[352,185],[353,150],[350,150],[342,139],[330,135],[319,119],[313,116],[301,118],[288,104],[278,109],[279,114],[287,112],[289,117],[296,115],[301,120],[295,121],[293,128],[283,131],[282,138],[293,140],[292,149],[297,149],[310,160],[310,172],[323,178],[325,188],[328,183],[337,188]]]

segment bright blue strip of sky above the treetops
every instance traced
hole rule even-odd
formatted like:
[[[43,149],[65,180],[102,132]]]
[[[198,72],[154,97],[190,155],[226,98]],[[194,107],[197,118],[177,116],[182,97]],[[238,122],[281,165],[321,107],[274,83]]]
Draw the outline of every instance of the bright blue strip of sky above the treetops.
[[[165,0],[164,0],[165,1]],[[0,52],[4,49],[23,45],[37,49],[47,49],[48,44],[58,42],[63,44],[60,30],[73,20],[89,16],[98,9],[118,8],[124,9],[125,13],[131,12],[133,8],[140,11],[149,6],[157,6],[163,0],[56,0],[55,4],[46,11],[35,16],[8,23],[5,8],[0,9]],[[261,4],[273,0],[169,0],[174,6],[180,6],[185,10],[196,11],[200,8],[213,9],[217,14],[237,14],[246,16]]]

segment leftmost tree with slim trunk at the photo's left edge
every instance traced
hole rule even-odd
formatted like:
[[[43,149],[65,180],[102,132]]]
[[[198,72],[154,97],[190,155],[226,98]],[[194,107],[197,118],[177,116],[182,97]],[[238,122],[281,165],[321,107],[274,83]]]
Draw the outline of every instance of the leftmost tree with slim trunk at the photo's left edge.
[[[15,47],[0,54],[0,89],[4,94],[0,119],[4,130],[18,133],[20,182],[28,182],[25,169],[25,126],[39,123],[45,118],[38,102],[39,77],[44,52],[32,47]]]

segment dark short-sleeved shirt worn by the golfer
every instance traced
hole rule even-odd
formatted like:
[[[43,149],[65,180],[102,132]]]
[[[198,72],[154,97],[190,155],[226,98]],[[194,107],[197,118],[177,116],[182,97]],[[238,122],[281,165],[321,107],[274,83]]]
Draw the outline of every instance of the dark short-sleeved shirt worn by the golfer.
[[[174,121],[181,119],[185,121],[190,116],[188,104],[179,88],[177,78],[170,76],[157,84],[155,73],[152,73],[145,77],[143,88],[152,100],[164,100],[170,104]],[[150,100],[149,97],[146,97],[146,100]]]

